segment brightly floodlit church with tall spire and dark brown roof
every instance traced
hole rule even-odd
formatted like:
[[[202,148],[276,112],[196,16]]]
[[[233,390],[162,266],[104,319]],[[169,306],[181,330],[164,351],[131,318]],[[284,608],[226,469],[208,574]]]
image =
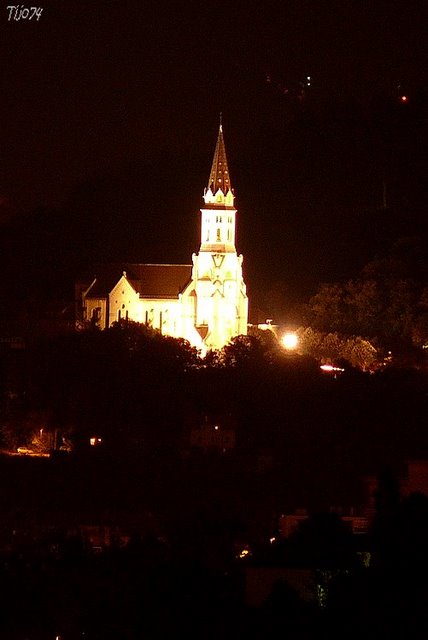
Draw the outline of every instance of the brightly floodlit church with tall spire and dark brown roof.
[[[78,285],[83,324],[105,329],[129,319],[185,338],[203,352],[247,333],[248,297],[221,124],[203,200],[201,245],[192,264],[100,267],[91,283]]]

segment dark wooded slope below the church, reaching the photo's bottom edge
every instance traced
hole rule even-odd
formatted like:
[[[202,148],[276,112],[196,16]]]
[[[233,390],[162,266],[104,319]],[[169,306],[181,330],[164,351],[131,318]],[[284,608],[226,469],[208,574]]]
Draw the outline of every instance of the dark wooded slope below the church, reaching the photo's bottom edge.
[[[326,374],[272,332],[201,360],[133,323],[34,336],[21,356],[3,446],[42,447],[46,431],[58,450],[0,458],[4,637],[276,637],[284,625],[339,637],[352,618],[381,638],[420,621],[426,499],[401,501],[391,480],[379,485],[369,568],[331,514],[266,542],[280,513],[359,507],[365,474],[426,458],[423,368]],[[233,431],[234,447],[195,447],[192,434],[211,425]],[[85,524],[129,539],[94,555],[73,534]],[[284,582],[261,607],[245,604],[243,544],[250,563],[327,576],[323,606]]]

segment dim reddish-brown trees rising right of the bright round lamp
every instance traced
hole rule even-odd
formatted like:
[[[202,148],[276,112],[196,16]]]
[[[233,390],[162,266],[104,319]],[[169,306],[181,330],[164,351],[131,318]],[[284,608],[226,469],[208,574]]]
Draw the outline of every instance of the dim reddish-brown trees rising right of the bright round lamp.
[[[385,348],[397,341],[426,343],[426,253],[420,239],[403,238],[357,279],[321,285],[309,301],[308,323],[327,334],[376,338]]]

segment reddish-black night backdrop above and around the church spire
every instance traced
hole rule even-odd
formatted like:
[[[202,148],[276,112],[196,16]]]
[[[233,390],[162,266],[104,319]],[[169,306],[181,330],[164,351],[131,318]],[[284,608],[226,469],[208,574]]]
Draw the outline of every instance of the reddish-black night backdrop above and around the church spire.
[[[27,272],[189,262],[220,111],[250,295],[305,296],[426,234],[425,2],[40,6],[0,8],[0,219],[25,220]]]

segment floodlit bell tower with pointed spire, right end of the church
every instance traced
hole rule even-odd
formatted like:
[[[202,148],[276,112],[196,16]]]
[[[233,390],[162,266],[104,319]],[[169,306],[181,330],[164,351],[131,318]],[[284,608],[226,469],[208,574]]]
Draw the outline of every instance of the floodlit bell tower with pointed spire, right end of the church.
[[[247,333],[248,298],[236,251],[236,209],[220,122],[201,209],[201,245],[193,255],[195,328],[204,347],[221,349]]]

